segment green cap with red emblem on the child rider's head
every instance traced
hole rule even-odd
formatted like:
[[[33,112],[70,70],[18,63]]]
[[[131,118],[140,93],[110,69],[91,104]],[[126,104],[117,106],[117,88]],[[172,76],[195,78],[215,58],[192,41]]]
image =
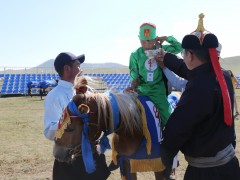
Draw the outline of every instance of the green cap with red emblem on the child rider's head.
[[[140,26],[139,35],[140,40],[153,40],[156,38],[156,26],[152,23],[143,23]]]

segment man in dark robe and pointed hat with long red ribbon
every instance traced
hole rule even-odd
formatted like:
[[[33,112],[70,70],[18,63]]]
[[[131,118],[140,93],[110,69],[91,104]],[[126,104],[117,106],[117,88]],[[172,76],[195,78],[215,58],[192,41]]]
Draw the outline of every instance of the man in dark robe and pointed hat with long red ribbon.
[[[233,86],[218,61],[218,39],[204,29],[204,15],[199,17],[198,28],[183,38],[183,61],[163,54],[164,64],[188,80],[163,131],[165,176],[180,150],[188,162],[184,180],[237,180],[240,169],[233,147]]]

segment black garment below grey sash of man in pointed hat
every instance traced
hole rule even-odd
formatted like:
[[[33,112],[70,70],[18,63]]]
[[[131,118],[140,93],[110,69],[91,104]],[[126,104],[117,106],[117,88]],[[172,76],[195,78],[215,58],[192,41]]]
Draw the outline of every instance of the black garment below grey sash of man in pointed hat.
[[[211,168],[188,166],[184,180],[240,180],[238,159],[234,157],[227,164]]]

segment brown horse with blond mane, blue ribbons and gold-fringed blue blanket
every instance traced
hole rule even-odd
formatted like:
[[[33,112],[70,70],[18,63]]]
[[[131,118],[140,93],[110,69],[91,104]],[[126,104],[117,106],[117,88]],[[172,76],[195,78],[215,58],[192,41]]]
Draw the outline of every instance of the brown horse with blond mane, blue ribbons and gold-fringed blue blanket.
[[[72,162],[81,156],[85,159],[86,171],[91,173],[95,170],[91,154],[96,153],[96,142],[104,140],[105,146],[110,148],[106,135],[113,133],[113,160],[121,164],[123,179],[136,179],[136,172],[145,171],[154,171],[156,179],[164,179],[160,158],[160,117],[154,104],[147,97],[139,98],[133,93],[84,92],[86,88],[81,87],[80,93],[64,110],[56,132],[55,158]],[[144,108],[144,103],[151,110]],[[146,120],[146,112],[153,112],[155,116],[152,120],[158,126],[155,134],[148,129],[152,125],[149,119]],[[144,158],[138,159],[139,154],[144,154]]]

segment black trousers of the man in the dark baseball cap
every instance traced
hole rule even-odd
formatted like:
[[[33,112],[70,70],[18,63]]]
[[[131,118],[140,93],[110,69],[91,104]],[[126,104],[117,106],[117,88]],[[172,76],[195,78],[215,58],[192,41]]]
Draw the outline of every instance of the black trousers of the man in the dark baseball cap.
[[[110,175],[105,155],[95,154],[96,171],[88,174],[82,157],[78,157],[72,164],[54,161],[53,180],[106,180]]]

